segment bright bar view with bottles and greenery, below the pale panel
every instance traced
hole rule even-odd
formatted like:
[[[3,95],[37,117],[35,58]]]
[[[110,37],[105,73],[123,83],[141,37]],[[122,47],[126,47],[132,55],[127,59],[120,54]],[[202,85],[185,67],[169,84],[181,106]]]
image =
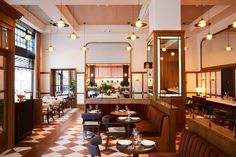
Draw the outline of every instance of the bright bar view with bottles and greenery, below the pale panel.
[[[129,68],[128,64],[87,64],[87,98],[129,98]]]

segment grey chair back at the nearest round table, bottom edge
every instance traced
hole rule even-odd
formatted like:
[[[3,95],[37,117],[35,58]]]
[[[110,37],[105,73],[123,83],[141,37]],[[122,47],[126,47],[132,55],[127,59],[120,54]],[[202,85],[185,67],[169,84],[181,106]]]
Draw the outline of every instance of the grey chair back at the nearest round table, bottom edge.
[[[99,149],[99,144],[102,144],[102,138],[99,135],[95,135],[88,143],[88,152],[91,157],[101,156],[101,152]]]

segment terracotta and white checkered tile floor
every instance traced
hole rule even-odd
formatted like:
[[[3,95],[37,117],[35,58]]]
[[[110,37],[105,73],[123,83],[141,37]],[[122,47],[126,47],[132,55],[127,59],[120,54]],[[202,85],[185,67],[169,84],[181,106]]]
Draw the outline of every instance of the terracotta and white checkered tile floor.
[[[40,144],[40,142],[51,134],[51,131],[57,129],[58,124],[66,122],[70,116],[77,111],[73,109],[68,111],[63,117],[57,118],[52,125],[43,125],[42,128],[35,128],[33,133],[26,137],[21,143],[27,145],[29,143]],[[102,157],[131,157],[132,155],[124,154],[116,149],[116,139],[110,139],[108,150],[105,150],[106,136],[101,134],[103,144],[99,146]],[[180,139],[180,134],[177,134],[177,149]],[[89,139],[88,139],[89,140]],[[78,117],[69,127],[55,140],[47,151],[42,152],[42,157],[87,157],[90,156],[87,150],[88,140],[83,140],[82,119]],[[32,147],[15,147],[12,150],[7,150],[0,154],[4,157],[20,157],[27,154]],[[148,157],[147,154],[140,154],[140,157]]]

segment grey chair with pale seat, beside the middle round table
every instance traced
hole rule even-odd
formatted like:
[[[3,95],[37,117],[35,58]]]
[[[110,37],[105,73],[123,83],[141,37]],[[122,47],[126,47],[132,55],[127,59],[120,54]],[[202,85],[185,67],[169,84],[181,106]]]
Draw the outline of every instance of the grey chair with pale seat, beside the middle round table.
[[[126,137],[126,129],[124,126],[109,126],[109,124],[110,124],[110,116],[109,115],[102,117],[102,124],[105,125],[105,127],[106,127],[106,132],[105,132],[105,135],[107,136],[106,145],[105,145],[106,150],[108,147],[110,136]]]

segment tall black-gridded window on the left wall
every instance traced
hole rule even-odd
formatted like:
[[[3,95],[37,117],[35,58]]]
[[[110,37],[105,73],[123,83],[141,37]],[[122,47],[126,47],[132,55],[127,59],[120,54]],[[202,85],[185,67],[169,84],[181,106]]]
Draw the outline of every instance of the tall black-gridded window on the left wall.
[[[25,40],[25,34],[33,36]],[[34,59],[35,59],[35,33],[23,25],[16,24],[15,28],[15,94],[33,94],[34,85]]]

